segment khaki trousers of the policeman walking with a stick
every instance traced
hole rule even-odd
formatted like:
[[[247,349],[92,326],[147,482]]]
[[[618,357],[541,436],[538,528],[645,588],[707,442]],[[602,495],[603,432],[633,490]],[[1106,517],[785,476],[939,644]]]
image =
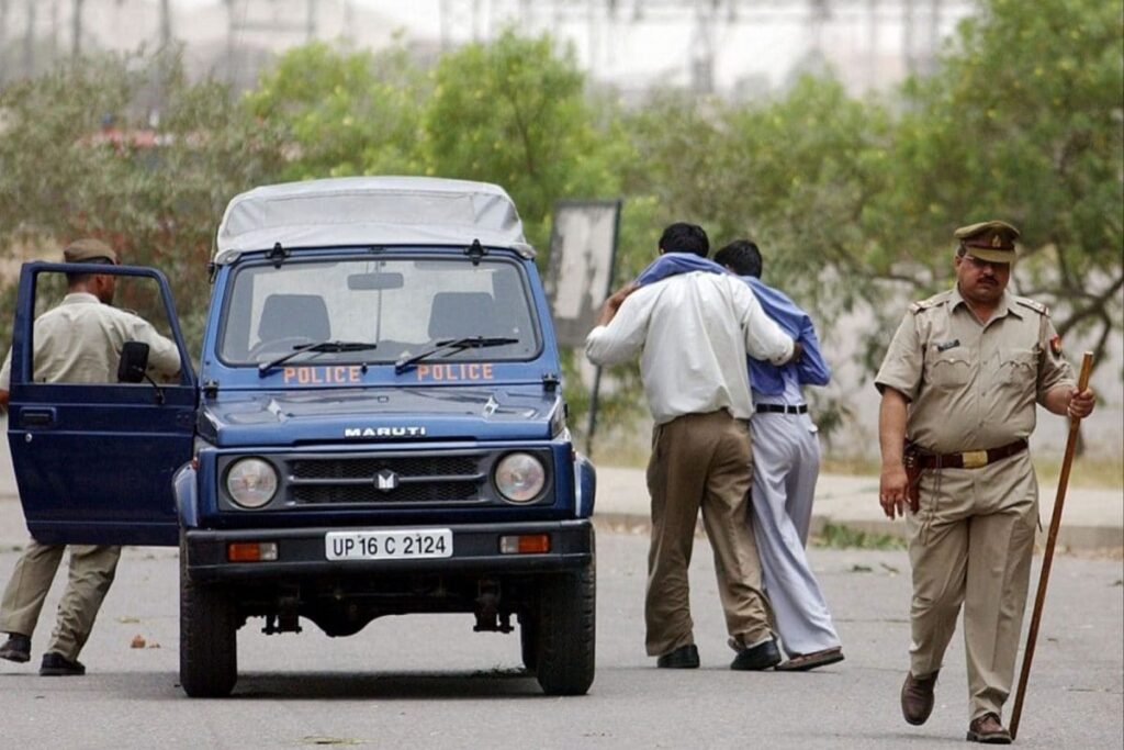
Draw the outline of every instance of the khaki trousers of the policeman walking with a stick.
[[[941,668],[964,608],[969,712],[1003,715],[1026,608],[1039,488],[1030,453],[980,469],[926,471],[907,518],[913,564],[910,671]]]

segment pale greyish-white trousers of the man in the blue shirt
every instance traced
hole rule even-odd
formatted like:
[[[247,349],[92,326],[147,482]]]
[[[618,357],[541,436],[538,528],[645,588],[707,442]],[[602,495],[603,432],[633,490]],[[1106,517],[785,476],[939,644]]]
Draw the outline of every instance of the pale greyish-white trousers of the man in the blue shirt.
[[[753,534],[765,591],[789,657],[840,645],[804,546],[819,475],[819,441],[807,414],[759,413],[753,436]]]

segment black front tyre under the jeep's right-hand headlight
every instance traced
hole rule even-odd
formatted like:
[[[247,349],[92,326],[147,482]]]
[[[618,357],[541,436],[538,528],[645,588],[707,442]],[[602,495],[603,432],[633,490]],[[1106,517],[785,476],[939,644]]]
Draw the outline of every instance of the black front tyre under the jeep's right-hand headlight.
[[[595,561],[552,577],[543,587],[538,612],[538,685],[546,695],[584,695],[593,684]]]

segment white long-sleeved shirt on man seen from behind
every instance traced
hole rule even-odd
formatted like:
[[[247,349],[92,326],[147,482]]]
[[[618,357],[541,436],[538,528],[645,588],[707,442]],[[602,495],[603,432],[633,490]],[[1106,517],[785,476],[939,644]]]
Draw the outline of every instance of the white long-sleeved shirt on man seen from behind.
[[[781,364],[792,355],[792,340],[744,281],[704,271],[642,287],[607,326],[586,337],[586,356],[595,364],[641,354],[644,396],[656,424],[718,409],[749,419],[746,352]]]

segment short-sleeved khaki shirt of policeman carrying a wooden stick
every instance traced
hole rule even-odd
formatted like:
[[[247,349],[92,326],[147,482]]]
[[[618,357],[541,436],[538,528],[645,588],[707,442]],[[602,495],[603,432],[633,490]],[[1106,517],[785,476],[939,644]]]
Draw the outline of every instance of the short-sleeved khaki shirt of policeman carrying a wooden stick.
[[[1049,310],[1005,293],[981,324],[960,291],[914,302],[878,371],[879,391],[909,399],[906,436],[936,453],[1006,445],[1034,431],[1035,401],[1076,385]]]

